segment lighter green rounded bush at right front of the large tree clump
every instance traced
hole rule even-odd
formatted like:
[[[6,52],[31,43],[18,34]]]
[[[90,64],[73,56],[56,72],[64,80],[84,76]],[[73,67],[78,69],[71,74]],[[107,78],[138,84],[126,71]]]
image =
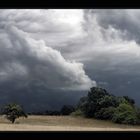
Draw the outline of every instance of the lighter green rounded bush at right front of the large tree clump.
[[[137,117],[137,113],[135,108],[133,108],[129,104],[120,104],[114,114],[112,121],[115,123],[121,123],[121,124],[138,124],[139,119]]]

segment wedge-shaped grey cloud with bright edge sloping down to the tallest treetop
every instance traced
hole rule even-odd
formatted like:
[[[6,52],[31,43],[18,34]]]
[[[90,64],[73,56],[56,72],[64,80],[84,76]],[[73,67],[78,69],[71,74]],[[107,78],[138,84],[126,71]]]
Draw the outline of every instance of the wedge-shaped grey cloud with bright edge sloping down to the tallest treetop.
[[[27,83],[35,82],[52,89],[87,90],[96,86],[82,63],[66,60],[43,40],[35,40],[15,26],[7,25],[5,31],[10,45],[1,46],[1,82],[20,77]]]

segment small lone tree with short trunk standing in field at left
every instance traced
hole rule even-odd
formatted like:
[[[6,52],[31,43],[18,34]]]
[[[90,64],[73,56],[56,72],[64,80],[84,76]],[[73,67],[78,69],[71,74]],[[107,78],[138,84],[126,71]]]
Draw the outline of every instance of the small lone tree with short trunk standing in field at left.
[[[25,114],[25,112],[23,111],[23,108],[20,105],[15,104],[15,103],[11,103],[4,106],[2,112],[3,114],[6,115],[6,118],[10,120],[12,123],[14,123],[15,120],[19,117],[23,116],[27,118],[27,114]]]

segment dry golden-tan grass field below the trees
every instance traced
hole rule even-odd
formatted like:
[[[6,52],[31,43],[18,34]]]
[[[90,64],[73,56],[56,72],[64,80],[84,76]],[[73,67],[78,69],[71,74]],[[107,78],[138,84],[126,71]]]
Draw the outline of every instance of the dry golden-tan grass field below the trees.
[[[0,116],[0,131],[140,131],[140,126],[72,116],[28,116],[11,124]]]

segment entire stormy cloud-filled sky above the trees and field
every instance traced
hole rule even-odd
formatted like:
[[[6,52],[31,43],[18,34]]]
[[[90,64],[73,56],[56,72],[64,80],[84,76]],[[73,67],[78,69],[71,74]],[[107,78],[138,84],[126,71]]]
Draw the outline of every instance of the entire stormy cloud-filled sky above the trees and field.
[[[140,10],[0,10],[0,104],[54,109],[92,86],[139,104],[139,83]]]

